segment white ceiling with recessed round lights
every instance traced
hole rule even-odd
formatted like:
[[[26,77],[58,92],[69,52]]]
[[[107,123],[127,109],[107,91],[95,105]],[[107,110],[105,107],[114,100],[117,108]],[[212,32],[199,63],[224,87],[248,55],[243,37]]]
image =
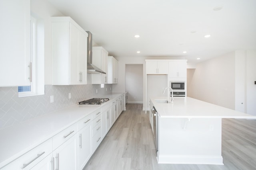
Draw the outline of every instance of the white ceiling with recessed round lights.
[[[256,49],[256,0],[48,1],[114,57],[178,57],[197,63]],[[214,11],[216,6],[223,8]]]

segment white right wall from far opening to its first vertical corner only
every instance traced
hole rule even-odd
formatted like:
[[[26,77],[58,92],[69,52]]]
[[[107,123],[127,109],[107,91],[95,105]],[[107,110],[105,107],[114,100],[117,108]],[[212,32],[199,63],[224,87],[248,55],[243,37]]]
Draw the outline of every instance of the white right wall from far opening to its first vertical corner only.
[[[234,56],[228,53],[188,69],[188,97],[235,109]]]

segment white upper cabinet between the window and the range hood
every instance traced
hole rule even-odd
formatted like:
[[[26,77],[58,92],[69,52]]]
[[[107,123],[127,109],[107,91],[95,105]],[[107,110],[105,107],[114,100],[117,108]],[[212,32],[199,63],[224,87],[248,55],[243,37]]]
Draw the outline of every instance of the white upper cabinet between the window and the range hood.
[[[87,37],[70,17],[52,17],[52,84],[87,84]]]

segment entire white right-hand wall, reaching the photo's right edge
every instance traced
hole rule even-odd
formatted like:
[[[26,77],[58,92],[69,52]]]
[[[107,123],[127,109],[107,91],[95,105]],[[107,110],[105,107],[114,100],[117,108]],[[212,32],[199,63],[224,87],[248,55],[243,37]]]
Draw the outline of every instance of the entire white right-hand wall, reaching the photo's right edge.
[[[256,115],[256,50],[236,50],[188,69],[188,97]]]

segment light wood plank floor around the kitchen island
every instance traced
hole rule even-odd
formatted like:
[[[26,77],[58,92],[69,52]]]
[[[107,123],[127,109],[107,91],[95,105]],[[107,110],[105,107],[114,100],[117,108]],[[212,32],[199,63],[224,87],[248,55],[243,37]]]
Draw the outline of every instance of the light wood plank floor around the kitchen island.
[[[224,165],[158,164],[149,114],[127,104],[84,170],[256,170],[256,120],[222,119]]]

